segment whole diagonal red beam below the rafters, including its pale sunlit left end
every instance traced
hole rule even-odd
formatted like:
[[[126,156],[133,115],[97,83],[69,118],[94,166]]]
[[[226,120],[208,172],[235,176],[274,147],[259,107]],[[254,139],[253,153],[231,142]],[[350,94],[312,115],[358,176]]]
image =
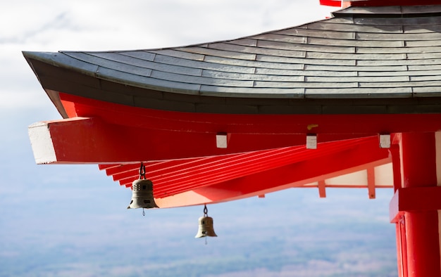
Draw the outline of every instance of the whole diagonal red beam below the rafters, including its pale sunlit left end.
[[[344,144],[344,142],[337,144]],[[319,149],[320,147],[311,151],[319,151]],[[375,136],[360,139],[358,144],[349,148],[325,155],[305,157],[304,160],[294,161],[290,165],[280,165],[261,172],[244,172],[240,176],[231,177],[227,174],[228,178],[225,181],[189,182],[188,186],[178,188],[173,188],[173,186],[161,188],[162,184],[154,181],[154,194],[159,207],[180,207],[209,202],[223,202],[263,195],[293,186],[302,186],[304,183],[332,178],[361,169],[384,165],[388,162],[391,162],[389,151],[378,147],[378,139]],[[366,186],[364,187],[366,188]],[[166,195],[156,195],[158,190],[166,193]]]

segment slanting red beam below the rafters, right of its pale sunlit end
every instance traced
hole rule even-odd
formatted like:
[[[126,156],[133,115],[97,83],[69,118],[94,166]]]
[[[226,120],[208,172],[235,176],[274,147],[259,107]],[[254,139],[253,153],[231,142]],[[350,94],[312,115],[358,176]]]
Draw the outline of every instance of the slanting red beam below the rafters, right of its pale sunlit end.
[[[255,191],[259,194],[279,191],[285,188],[302,186],[304,183],[327,179],[367,167],[384,165],[390,162],[387,149],[378,148],[376,140],[368,140],[351,149],[321,155],[302,162],[278,167],[265,172],[257,172],[223,183],[213,184],[195,190],[214,201],[224,198],[229,200],[251,196]],[[377,146],[376,148],[369,145]],[[236,198],[230,198],[237,194]]]

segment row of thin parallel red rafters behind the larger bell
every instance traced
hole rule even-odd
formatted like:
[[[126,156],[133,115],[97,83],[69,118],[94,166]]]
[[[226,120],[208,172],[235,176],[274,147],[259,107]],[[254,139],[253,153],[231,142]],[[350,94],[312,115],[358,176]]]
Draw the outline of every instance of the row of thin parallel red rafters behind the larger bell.
[[[364,139],[321,143],[316,150],[308,150],[304,146],[294,146],[200,159],[150,162],[147,163],[146,172],[147,178],[155,183],[156,197],[161,197],[163,193],[170,195],[201,186],[211,186],[214,183],[240,178],[255,172],[266,171],[275,167],[330,155],[331,153],[341,153],[359,145],[366,145],[366,143],[375,147],[377,141],[377,137],[373,136]],[[132,181],[138,178],[139,164],[122,167],[122,173],[119,173],[116,169],[118,167],[113,167],[110,170],[115,174],[113,179],[119,180],[121,185],[131,186]]]

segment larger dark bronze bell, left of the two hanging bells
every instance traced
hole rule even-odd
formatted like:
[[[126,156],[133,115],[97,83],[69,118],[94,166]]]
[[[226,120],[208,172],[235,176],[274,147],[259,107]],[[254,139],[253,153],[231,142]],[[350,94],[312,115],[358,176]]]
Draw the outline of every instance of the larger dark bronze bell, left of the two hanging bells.
[[[138,179],[132,183],[132,200],[128,209],[139,207],[150,209],[158,207],[153,198],[153,183],[147,179]]]

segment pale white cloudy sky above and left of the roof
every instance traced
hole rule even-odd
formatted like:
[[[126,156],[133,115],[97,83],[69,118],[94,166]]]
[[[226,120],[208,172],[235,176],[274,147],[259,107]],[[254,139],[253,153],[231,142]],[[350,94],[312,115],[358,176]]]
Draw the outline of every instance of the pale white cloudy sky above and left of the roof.
[[[51,109],[21,51],[184,46],[302,25],[337,9],[318,0],[8,1],[0,11],[0,109]]]

